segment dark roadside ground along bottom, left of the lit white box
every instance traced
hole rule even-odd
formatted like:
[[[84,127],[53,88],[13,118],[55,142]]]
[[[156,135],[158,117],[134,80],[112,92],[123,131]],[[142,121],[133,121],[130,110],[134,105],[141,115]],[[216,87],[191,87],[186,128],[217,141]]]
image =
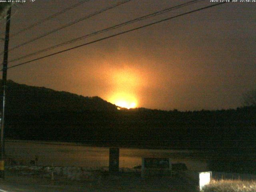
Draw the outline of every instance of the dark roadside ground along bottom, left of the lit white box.
[[[140,175],[105,175],[101,180],[50,180],[40,176],[21,176],[7,172],[0,180],[1,192],[196,192],[196,186],[180,176],[142,179]]]

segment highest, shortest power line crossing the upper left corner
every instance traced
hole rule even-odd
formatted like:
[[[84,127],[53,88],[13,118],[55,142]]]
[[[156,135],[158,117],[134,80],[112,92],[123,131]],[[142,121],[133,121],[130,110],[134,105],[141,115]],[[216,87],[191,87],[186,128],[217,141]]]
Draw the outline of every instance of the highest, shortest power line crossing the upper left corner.
[[[85,2],[88,2],[88,1],[90,1],[90,0],[82,0],[82,1],[80,1],[80,2],[78,2],[78,3],[76,3],[76,4],[72,5],[72,6],[70,6],[70,7],[66,8],[66,9],[64,9],[64,10],[61,10],[60,12],[57,12],[57,13],[55,13],[55,14],[53,14],[53,15],[50,15],[50,16],[48,16],[47,18],[44,18],[44,19],[42,19],[42,20],[40,20],[40,21],[38,21],[38,22],[36,22],[36,23],[34,23],[34,24],[32,24],[32,25],[30,25],[30,26],[28,26],[28,27],[26,27],[26,28],[24,28],[24,29],[22,29],[22,30],[19,30],[18,32],[14,33],[14,34],[11,34],[10,37],[17,36],[17,35],[19,35],[20,33],[24,32],[24,31],[26,31],[26,30],[29,30],[29,29],[31,29],[31,28],[33,28],[33,27],[39,25],[39,24],[42,24],[42,23],[44,23],[44,22],[46,22],[46,21],[48,21],[48,20],[50,20],[50,19],[52,19],[52,18],[54,18],[54,17],[56,17],[56,16],[62,14],[62,13],[67,12],[68,10],[71,10],[71,9],[73,9],[73,8],[76,8],[77,6],[80,6],[81,4],[83,4],[83,3],[85,3]]]

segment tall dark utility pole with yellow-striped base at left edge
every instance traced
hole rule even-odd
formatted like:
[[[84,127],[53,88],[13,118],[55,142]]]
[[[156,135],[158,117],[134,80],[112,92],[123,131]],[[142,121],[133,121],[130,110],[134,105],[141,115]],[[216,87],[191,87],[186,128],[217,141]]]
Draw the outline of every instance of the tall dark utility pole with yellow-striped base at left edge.
[[[0,159],[0,179],[4,179],[4,108],[5,108],[5,95],[6,95],[6,79],[7,79],[7,64],[8,64],[8,45],[9,45],[9,32],[11,21],[11,7],[7,12],[6,17],[6,30],[4,42],[4,62],[3,62],[3,76],[2,76],[2,106],[1,106],[1,159]]]

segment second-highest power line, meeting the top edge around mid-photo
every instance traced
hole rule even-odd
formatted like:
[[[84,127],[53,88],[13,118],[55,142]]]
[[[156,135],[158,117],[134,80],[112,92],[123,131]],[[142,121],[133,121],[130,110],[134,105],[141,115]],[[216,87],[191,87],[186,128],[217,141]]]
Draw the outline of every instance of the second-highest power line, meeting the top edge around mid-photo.
[[[73,22],[70,22],[70,23],[68,23],[68,24],[66,24],[66,25],[64,25],[64,26],[61,26],[61,27],[59,27],[59,28],[56,28],[56,29],[54,29],[54,30],[52,30],[52,31],[50,31],[50,32],[46,32],[45,34],[42,34],[42,35],[40,35],[40,36],[38,36],[38,37],[36,37],[36,38],[34,38],[34,39],[31,39],[31,40],[28,40],[28,41],[26,41],[26,42],[24,42],[24,43],[22,43],[22,44],[19,44],[19,45],[15,46],[15,47],[9,49],[8,51],[12,51],[12,50],[14,50],[14,49],[16,49],[16,48],[19,48],[19,47],[21,47],[21,46],[23,46],[23,45],[26,45],[26,44],[30,43],[30,42],[33,42],[33,41],[38,40],[38,39],[40,39],[40,38],[43,38],[43,37],[45,37],[45,36],[47,36],[47,35],[49,35],[49,34],[52,34],[52,33],[56,32],[56,31],[58,31],[58,30],[64,29],[64,28],[66,28],[66,27],[68,27],[68,26],[71,26],[71,25],[76,24],[76,23],[78,23],[78,22],[80,22],[80,21],[82,21],[82,20],[88,19],[88,18],[90,18],[90,17],[92,17],[92,16],[95,16],[95,15],[97,15],[97,14],[100,14],[100,13],[102,13],[102,12],[105,12],[105,11],[107,11],[107,10],[110,10],[110,9],[112,9],[112,8],[115,8],[115,7],[117,7],[117,6],[120,6],[120,5],[122,5],[122,4],[124,4],[124,3],[127,3],[127,2],[129,2],[129,1],[131,1],[131,0],[124,0],[124,1],[122,1],[122,2],[118,2],[117,4],[114,4],[114,5],[112,5],[112,6],[108,6],[108,7],[104,8],[104,9],[102,9],[102,10],[96,11],[96,12],[94,12],[94,13],[92,13],[92,14],[89,14],[89,15],[87,15],[87,16],[84,16],[84,17],[82,17],[82,18],[80,18],[80,19],[78,19],[78,20],[75,20],[75,21],[73,21]],[[2,52],[0,55],[2,55],[2,54],[3,54],[3,52]]]

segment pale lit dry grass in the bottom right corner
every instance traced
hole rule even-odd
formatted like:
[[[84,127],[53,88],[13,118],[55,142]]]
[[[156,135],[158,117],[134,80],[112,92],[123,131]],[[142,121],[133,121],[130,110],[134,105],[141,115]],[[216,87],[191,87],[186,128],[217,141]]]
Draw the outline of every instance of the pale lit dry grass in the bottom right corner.
[[[256,181],[212,180],[202,192],[256,192]]]

